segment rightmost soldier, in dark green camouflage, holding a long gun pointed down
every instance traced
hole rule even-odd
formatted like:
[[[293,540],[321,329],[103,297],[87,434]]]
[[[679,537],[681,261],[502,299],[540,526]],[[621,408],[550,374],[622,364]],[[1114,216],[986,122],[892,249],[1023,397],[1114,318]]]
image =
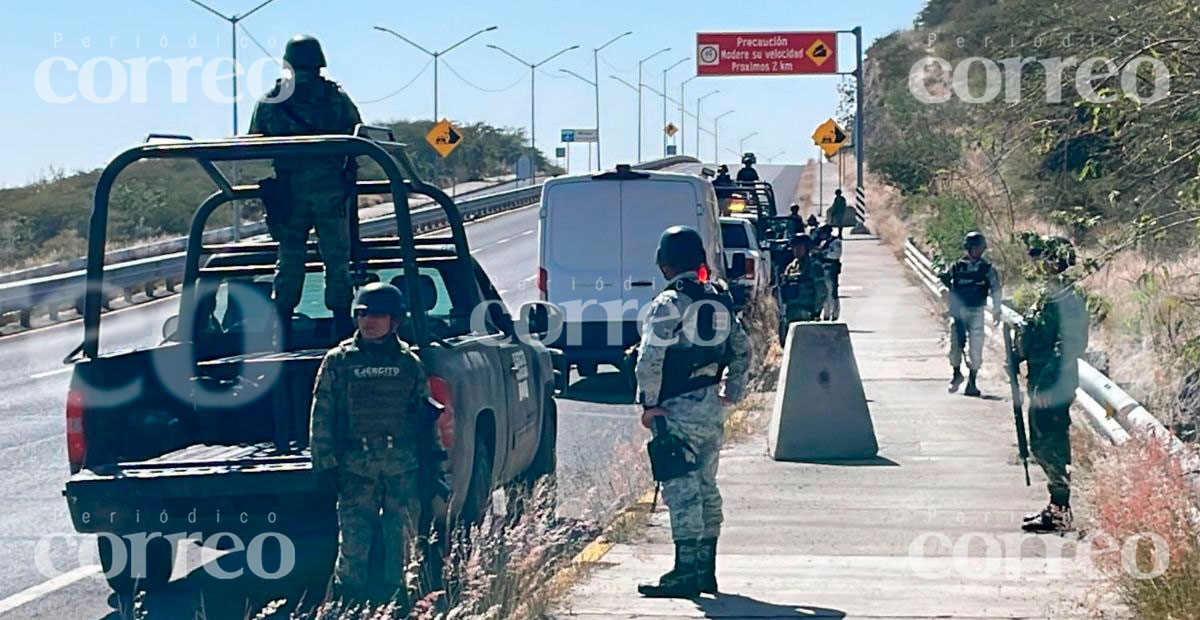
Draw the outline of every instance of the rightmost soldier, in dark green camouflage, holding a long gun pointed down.
[[[1050,504],[1025,518],[1026,531],[1070,526],[1070,404],[1079,387],[1079,359],[1087,350],[1087,307],[1063,272],[1075,249],[1062,237],[1032,239],[1030,257],[1045,282],[1025,315],[1018,351],[1030,390],[1030,447],[1046,475]]]

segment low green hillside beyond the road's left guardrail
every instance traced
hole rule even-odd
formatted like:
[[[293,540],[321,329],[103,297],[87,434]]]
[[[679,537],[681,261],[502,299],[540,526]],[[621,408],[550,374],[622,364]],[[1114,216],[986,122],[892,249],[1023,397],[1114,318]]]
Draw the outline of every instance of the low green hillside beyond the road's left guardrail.
[[[409,157],[426,179],[438,176],[439,185],[478,180],[484,176],[511,173],[512,162],[528,154],[527,137],[517,130],[493,127],[487,124],[461,124],[463,144],[444,161],[425,144],[431,121],[397,121],[386,124],[397,140],[409,145]],[[541,154],[535,154],[540,169],[547,169]],[[232,168],[222,165],[227,176]],[[553,168],[553,167],[550,167]],[[240,165],[239,179],[251,182],[271,174],[268,162],[247,162]],[[85,252],[88,217],[91,212],[92,191],[100,169],[64,174],[25,187],[0,189],[0,270],[46,264],[61,258],[74,258]],[[382,177],[373,164],[364,165],[361,177]],[[187,231],[196,206],[215,191],[212,182],[193,162],[143,162],[122,173],[113,188],[109,241],[128,245],[140,240]],[[257,204],[247,205],[251,213]],[[217,225],[228,225],[228,218]]]

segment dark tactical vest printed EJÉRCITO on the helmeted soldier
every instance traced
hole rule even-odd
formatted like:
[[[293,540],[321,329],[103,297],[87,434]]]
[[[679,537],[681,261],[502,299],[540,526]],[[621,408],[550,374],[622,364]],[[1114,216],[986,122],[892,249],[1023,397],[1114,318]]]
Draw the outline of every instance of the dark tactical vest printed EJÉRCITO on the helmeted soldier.
[[[348,433],[350,450],[413,446],[416,443],[415,411],[408,410],[416,375],[407,360],[356,363],[348,368]]]

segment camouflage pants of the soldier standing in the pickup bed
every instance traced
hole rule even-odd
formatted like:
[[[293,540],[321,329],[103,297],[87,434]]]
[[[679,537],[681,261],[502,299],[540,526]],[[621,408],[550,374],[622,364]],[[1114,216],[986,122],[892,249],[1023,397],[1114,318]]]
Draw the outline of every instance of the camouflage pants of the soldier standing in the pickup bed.
[[[275,264],[275,305],[294,309],[304,289],[308,231],[317,229],[317,247],[325,263],[325,307],[334,312],[350,311],[350,231],[346,218],[346,195],[340,187],[313,191],[293,183],[292,213],[286,222],[271,227],[280,243]]]

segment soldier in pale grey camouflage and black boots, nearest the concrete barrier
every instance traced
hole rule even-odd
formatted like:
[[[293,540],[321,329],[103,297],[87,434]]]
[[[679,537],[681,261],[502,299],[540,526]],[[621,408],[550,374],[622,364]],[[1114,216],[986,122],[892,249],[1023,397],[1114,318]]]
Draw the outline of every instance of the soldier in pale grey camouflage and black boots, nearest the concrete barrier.
[[[703,242],[694,229],[672,227],[662,233],[656,261],[667,287],[650,303],[635,367],[642,425],[649,428],[661,416],[665,429],[686,441],[696,456],[695,470],[662,482],[676,546],[674,567],[658,584],[638,585],[638,592],[649,597],[716,594],[716,538],[722,520],[716,488],[725,425],[721,404],[743,397],[750,343],[727,311],[714,312],[712,319],[718,350],[706,354],[701,349],[707,347],[689,339],[689,333],[701,333],[695,317],[702,303],[695,303],[696,297],[714,303],[712,299],[721,294],[713,284],[698,282],[697,270],[704,260]]]

